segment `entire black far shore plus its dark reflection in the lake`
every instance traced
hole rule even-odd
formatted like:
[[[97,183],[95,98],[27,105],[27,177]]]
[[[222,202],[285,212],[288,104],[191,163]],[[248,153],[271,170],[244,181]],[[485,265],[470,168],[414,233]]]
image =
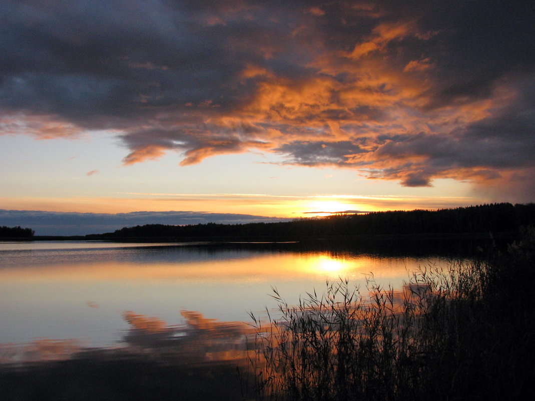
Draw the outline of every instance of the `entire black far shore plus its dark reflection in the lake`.
[[[85,236],[26,236],[27,228],[4,227],[3,241],[98,240],[117,243],[210,243],[350,249],[358,253],[462,254],[506,249],[535,226],[535,203],[494,203],[440,210],[380,211],[301,218],[289,222],[188,225],[145,224]],[[10,231],[11,230],[11,231]],[[197,244],[201,245],[201,244]]]

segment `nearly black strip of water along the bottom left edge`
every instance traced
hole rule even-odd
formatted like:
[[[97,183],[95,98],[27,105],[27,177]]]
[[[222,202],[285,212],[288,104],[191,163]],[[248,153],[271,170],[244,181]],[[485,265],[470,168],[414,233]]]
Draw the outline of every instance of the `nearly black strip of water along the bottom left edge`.
[[[150,356],[79,357],[34,367],[4,369],[5,401],[191,401],[242,400],[232,364],[161,364]]]

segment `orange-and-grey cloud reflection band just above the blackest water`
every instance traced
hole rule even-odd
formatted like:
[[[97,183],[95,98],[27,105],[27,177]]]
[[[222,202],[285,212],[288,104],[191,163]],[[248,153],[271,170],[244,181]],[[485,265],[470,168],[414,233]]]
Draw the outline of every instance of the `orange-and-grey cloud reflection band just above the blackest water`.
[[[82,354],[106,351],[113,354],[151,354],[165,357],[174,364],[209,361],[243,362],[247,357],[247,335],[254,330],[244,322],[222,322],[207,319],[201,313],[181,311],[185,324],[170,326],[158,317],[125,311],[123,319],[129,324],[120,345],[90,348],[76,339],[37,339],[26,344],[0,344],[0,363],[58,361],[80,357]]]

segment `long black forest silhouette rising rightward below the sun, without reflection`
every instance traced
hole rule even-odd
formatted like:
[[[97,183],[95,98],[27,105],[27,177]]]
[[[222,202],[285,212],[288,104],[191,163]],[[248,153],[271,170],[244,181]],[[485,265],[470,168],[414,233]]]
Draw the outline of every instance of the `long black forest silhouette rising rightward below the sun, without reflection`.
[[[535,225],[535,203],[492,203],[439,210],[377,211],[247,224],[146,224],[104,234],[112,238],[296,238],[372,234],[517,232]]]

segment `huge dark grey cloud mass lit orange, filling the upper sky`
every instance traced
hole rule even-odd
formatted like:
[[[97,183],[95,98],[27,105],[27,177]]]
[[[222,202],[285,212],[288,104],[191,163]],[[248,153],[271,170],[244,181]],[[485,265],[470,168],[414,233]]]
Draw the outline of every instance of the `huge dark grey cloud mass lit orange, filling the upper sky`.
[[[169,151],[193,164],[260,149],[406,186],[528,177],[534,8],[7,1],[0,132],[114,130],[125,164]]]

